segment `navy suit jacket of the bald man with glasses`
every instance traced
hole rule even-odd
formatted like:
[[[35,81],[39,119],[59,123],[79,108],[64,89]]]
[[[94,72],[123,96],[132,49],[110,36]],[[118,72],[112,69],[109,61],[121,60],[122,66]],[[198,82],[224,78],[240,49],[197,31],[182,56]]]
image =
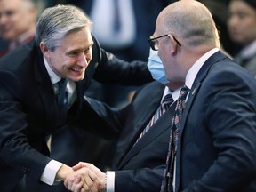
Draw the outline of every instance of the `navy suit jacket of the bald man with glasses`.
[[[181,117],[175,191],[256,191],[256,82],[216,52]]]

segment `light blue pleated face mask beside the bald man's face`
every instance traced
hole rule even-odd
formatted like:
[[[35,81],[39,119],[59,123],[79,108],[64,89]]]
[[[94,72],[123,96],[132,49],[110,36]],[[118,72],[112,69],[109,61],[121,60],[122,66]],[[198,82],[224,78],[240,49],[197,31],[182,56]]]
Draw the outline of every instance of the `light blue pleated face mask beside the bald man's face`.
[[[167,84],[169,81],[165,77],[164,65],[160,60],[158,51],[150,49],[148,57],[148,70],[151,73],[151,76],[158,82],[162,84]]]

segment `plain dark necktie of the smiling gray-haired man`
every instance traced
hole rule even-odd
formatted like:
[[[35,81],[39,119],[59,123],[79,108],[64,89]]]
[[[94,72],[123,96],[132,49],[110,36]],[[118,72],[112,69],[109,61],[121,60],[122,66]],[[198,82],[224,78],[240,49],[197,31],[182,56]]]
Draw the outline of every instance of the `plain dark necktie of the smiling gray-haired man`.
[[[59,92],[56,94],[56,100],[58,104],[58,124],[64,124],[66,122],[68,114],[68,92],[66,92],[68,80],[61,79],[58,82]]]

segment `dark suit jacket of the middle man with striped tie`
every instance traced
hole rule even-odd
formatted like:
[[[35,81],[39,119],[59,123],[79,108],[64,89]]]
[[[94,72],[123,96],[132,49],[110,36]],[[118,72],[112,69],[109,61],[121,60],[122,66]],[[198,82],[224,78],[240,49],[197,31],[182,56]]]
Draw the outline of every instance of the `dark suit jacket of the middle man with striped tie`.
[[[160,191],[175,104],[156,121],[156,124],[134,147],[133,144],[155,114],[163,93],[163,84],[158,82],[148,84],[134,95],[131,104],[116,112],[110,111],[99,102],[90,100],[91,107],[101,116],[100,119],[105,118],[108,125],[116,127],[116,129],[123,127],[123,132],[117,143],[113,167],[113,170],[116,171],[116,192]],[[92,116],[92,112],[87,116],[90,115]],[[91,116],[90,119],[93,119]],[[94,122],[96,121],[92,121],[92,123]],[[97,122],[99,123],[99,120]],[[97,126],[108,129],[106,123]]]

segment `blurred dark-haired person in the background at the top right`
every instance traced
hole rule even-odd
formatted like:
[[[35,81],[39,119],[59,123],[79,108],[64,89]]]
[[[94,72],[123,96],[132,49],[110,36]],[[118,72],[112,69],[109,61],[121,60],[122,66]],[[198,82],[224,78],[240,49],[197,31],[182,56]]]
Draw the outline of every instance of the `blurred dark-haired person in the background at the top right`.
[[[240,46],[234,59],[256,76],[256,1],[231,0],[228,4],[228,32]]]

